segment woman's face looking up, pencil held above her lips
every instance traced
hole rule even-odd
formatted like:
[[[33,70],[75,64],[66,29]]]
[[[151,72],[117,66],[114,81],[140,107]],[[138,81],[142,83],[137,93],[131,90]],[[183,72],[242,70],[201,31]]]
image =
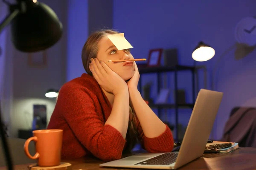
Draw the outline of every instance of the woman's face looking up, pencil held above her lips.
[[[133,77],[134,62],[108,62],[108,60],[134,59],[130,49],[118,50],[107,36],[99,41],[98,49],[97,59],[105,62],[111,70],[116,72],[125,81]]]

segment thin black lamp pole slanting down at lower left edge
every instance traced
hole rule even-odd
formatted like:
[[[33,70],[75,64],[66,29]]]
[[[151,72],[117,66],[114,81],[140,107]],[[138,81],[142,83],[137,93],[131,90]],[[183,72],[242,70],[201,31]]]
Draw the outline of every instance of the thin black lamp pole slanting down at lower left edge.
[[[5,130],[3,128],[1,115],[2,115],[2,111],[1,111],[1,103],[0,103],[0,138],[2,140],[3,151],[5,153],[8,170],[13,170],[12,157],[11,157],[9,146],[7,143],[6,134],[4,132]]]

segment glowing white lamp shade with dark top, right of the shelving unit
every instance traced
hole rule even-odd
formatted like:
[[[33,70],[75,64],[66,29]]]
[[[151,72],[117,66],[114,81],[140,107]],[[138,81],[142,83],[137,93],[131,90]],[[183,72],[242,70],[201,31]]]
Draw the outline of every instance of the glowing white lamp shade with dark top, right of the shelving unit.
[[[204,42],[199,42],[198,46],[192,53],[192,58],[195,61],[207,61],[215,55],[215,50]]]

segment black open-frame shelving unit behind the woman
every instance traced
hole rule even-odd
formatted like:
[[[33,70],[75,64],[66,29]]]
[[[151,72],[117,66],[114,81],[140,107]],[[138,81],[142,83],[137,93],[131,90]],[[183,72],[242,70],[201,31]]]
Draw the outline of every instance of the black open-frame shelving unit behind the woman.
[[[178,87],[177,87],[177,72],[178,71],[190,71],[192,73],[192,102],[193,103],[187,103],[187,104],[178,104]],[[174,104],[149,104],[151,108],[157,108],[158,113],[160,113],[160,109],[164,108],[175,108],[175,130],[176,130],[176,140],[178,140],[178,109],[179,108],[189,108],[193,109],[195,105],[195,67],[191,66],[184,66],[184,65],[176,65],[174,67],[166,67],[166,66],[160,66],[160,67],[139,67],[140,75],[143,74],[149,74],[149,73],[157,73],[157,93],[160,92],[160,86],[161,86],[161,80],[160,80],[160,74],[164,72],[174,72],[174,83],[175,83],[175,103]],[[139,81],[139,88],[140,91],[143,90],[141,79]]]

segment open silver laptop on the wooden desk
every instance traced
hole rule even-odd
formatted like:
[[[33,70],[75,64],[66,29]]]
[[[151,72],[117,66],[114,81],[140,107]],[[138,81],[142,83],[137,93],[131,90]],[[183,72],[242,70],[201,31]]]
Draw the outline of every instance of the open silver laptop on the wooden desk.
[[[177,169],[204,153],[223,93],[201,89],[189,119],[179,153],[140,153],[100,166]]]

